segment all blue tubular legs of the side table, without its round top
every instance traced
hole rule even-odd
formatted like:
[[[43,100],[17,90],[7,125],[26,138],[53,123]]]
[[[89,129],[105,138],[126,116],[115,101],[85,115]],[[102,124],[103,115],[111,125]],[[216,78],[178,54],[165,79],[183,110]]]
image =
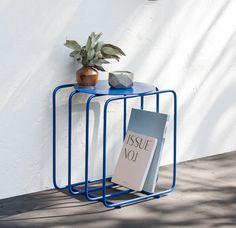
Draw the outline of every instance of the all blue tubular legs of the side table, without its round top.
[[[72,98],[75,94],[79,93],[79,91],[74,90],[71,92],[71,94],[69,96],[69,100],[68,100],[68,185],[66,185],[64,187],[59,187],[59,185],[57,184],[57,181],[56,181],[56,94],[59,90],[61,90],[63,88],[72,87],[72,86],[74,86],[74,84],[61,85],[61,86],[56,87],[53,91],[53,184],[54,184],[55,188],[58,190],[68,188],[68,191],[73,195],[84,194],[88,200],[102,201],[103,204],[109,208],[110,207],[121,207],[123,205],[143,201],[143,200],[146,200],[149,198],[160,197],[160,196],[165,195],[169,192],[172,192],[174,190],[175,184],[176,184],[177,96],[173,90],[159,91],[157,88],[156,88],[155,92],[144,93],[144,94],[139,94],[139,95],[129,95],[129,96],[124,95],[122,97],[113,97],[113,98],[110,98],[106,101],[106,103],[104,105],[104,126],[103,126],[103,128],[104,128],[104,131],[103,131],[103,176],[102,176],[102,178],[94,179],[94,180],[89,180],[89,178],[88,178],[88,169],[89,169],[89,109],[90,109],[91,100],[94,97],[101,96],[101,95],[91,95],[88,98],[87,103],[86,103],[85,181],[73,183],[73,184],[71,183],[71,172],[72,172],[72,170],[71,170]],[[123,201],[120,203],[113,203],[112,201],[107,200],[107,198],[112,197],[112,196],[113,197],[118,196],[121,194],[126,194],[126,193],[131,192],[132,190],[127,189],[127,190],[123,190],[123,191],[116,192],[116,193],[106,194],[106,188],[117,186],[116,184],[107,184],[106,185],[106,181],[111,179],[111,177],[106,177],[106,128],[107,128],[108,104],[112,101],[115,101],[115,100],[122,100],[122,99],[124,100],[123,137],[125,137],[127,99],[140,97],[141,98],[140,108],[143,109],[144,108],[144,97],[150,96],[150,95],[156,95],[156,112],[159,112],[159,105],[160,105],[159,94],[162,94],[162,93],[171,93],[174,98],[174,132],[173,132],[174,144],[173,144],[173,182],[172,182],[172,186],[168,190],[165,190],[162,192],[153,193],[153,194],[146,193],[147,194],[146,196],[137,197],[137,198],[126,200],[126,201]],[[100,181],[102,181],[102,187],[89,188],[89,183],[96,183],[96,182],[100,182]],[[84,190],[77,190],[74,188],[79,185],[85,185],[85,189]],[[93,191],[96,191],[99,189],[102,189],[101,196],[96,196],[96,195],[90,193],[90,192],[93,192]],[[143,193],[145,193],[145,192],[143,192]]]

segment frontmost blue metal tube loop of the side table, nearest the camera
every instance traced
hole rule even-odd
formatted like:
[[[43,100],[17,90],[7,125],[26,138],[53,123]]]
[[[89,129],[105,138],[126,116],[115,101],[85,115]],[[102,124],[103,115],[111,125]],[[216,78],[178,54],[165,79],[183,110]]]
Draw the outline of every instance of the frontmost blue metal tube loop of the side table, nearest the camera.
[[[115,100],[122,100],[124,99],[124,97],[115,97],[115,98],[110,98],[106,101],[105,105],[104,105],[104,125],[103,125],[103,180],[102,180],[102,201],[103,204],[108,207],[108,208],[112,208],[112,207],[122,207],[124,205],[127,204],[131,204],[131,203],[136,203],[136,202],[140,202],[146,199],[150,199],[153,197],[160,197],[162,195],[166,195],[170,192],[172,192],[175,188],[176,185],[176,149],[177,149],[177,96],[175,91],[173,90],[163,90],[163,91],[155,91],[155,92],[151,92],[151,93],[146,93],[146,94],[142,94],[142,96],[150,96],[150,95],[158,95],[158,102],[157,102],[157,107],[156,110],[159,111],[159,94],[164,94],[164,93],[171,93],[173,95],[173,100],[174,100],[174,130],[173,130],[173,180],[172,180],[172,185],[169,189],[165,190],[165,191],[161,191],[161,192],[157,192],[157,193],[152,193],[152,194],[148,194],[146,196],[140,196],[134,199],[130,199],[130,200],[125,200],[119,203],[113,203],[111,201],[108,201],[107,198],[110,196],[114,196],[113,194],[107,195],[106,194],[106,129],[107,129],[107,108],[108,108],[108,104],[112,101]],[[139,97],[140,95],[134,95],[134,96],[126,96],[126,99],[130,99],[130,98],[136,98]],[[141,97],[142,97],[141,96]],[[122,194],[122,193],[121,193]]]

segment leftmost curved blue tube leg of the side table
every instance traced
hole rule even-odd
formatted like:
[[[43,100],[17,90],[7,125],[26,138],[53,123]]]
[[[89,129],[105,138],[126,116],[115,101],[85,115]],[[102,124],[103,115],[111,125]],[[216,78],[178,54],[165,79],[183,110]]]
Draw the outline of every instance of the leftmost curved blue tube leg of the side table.
[[[52,173],[53,173],[53,185],[56,189],[58,190],[61,190],[61,189],[65,189],[66,186],[64,187],[60,187],[58,184],[57,184],[57,178],[56,178],[56,171],[57,171],[57,163],[56,163],[56,95],[57,95],[57,92],[61,89],[64,89],[64,88],[68,88],[68,87],[73,87],[74,84],[65,84],[65,85],[61,85],[61,86],[57,86],[54,90],[53,90],[53,93],[52,93],[52,160],[53,160],[53,164],[52,164],[52,167],[53,167],[53,170],[52,170]]]

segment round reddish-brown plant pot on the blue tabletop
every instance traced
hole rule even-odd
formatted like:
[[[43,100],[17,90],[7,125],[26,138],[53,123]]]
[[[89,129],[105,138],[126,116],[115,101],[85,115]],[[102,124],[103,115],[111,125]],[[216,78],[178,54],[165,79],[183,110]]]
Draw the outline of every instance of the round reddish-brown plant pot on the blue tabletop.
[[[76,81],[81,87],[95,87],[98,72],[92,67],[82,67],[76,72]]]

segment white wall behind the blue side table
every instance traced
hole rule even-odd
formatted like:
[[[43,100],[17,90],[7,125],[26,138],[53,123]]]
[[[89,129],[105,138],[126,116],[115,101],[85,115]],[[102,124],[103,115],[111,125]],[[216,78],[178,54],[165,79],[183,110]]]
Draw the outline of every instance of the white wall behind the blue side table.
[[[1,0],[0,198],[52,188],[51,93],[59,84],[73,83],[77,68],[63,43],[66,38],[83,43],[92,31],[103,32],[106,42],[127,54],[108,71],[131,70],[137,81],[176,90],[178,161],[235,150],[235,12],[236,1],[228,0]],[[68,93],[58,97],[60,184],[66,179]],[[78,120],[73,133],[80,135],[73,135],[74,180],[83,178],[85,99],[75,99],[73,112]],[[91,159],[91,176],[101,170],[97,123],[103,100],[92,104],[91,153],[96,158]],[[110,161],[117,158],[122,132],[117,127],[122,106],[115,105],[109,109],[114,117],[109,122]],[[171,102],[164,99],[162,111],[169,110]],[[167,138],[170,131],[171,126]],[[162,164],[170,162],[167,142]]]

